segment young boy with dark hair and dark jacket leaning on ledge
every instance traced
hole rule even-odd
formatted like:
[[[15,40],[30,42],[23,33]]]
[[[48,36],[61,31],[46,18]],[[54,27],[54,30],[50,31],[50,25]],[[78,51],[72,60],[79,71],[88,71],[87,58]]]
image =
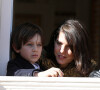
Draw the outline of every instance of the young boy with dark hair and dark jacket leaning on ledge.
[[[42,52],[42,31],[37,25],[24,23],[12,31],[11,49],[15,57],[7,65],[7,76],[63,76],[58,68],[42,71],[36,63]]]

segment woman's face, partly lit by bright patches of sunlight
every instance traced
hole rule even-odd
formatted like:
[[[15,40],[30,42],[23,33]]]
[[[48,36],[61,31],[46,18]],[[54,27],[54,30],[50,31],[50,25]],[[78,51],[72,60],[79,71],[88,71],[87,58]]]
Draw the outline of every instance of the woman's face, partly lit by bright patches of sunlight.
[[[65,68],[74,58],[64,32],[60,32],[57,40],[55,41],[54,54],[61,68]]]

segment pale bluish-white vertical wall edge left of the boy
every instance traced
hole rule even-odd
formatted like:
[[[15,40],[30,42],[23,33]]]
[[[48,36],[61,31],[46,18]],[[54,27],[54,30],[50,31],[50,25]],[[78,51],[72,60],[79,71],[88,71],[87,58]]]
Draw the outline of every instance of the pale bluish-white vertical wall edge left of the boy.
[[[0,0],[0,75],[6,75],[12,30],[13,0]]]

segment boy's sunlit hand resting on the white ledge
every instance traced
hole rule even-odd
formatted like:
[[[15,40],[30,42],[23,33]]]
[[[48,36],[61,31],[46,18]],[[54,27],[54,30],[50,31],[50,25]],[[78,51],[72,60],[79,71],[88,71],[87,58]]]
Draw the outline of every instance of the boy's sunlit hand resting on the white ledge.
[[[59,68],[50,68],[43,72],[38,72],[37,77],[63,77],[63,72]]]

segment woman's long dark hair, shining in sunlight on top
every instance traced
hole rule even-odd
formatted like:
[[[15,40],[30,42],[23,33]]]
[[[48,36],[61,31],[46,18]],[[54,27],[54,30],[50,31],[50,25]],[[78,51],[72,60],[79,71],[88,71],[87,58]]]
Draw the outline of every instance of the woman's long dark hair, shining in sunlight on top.
[[[57,64],[54,55],[54,44],[59,32],[64,32],[66,40],[72,49],[77,70],[86,75],[90,71],[91,58],[89,54],[88,34],[77,20],[66,20],[53,33],[49,44],[46,46],[47,56]]]

